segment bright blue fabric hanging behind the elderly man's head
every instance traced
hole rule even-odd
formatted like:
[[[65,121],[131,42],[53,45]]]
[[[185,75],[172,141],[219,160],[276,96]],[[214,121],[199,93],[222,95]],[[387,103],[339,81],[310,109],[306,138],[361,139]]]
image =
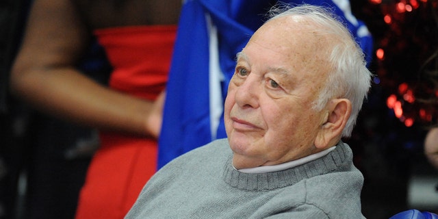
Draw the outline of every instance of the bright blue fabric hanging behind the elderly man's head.
[[[300,1],[283,1],[298,4]],[[344,12],[333,1],[304,1]],[[181,9],[175,51],[167,84],[164,119],[159,138],[158,168],[175,157],[211,142],[212,136],[225,138],[223,113],[215,135],[211,134],[209,112],[209,29],[206,14],[218,31],[218,55],[224,75],[221,95],[225,99],[234,73],[235,55],[241,51],[276,1],[267,0],[188,0]],[[359,26],[348,28],[356,36]],[[361,23],[363,25],[363,23]],[[365,53],[371,54],[372,38],[358,38]],[[369,55],[369,57],[371,57]],[[370,58],[368,58],[370,60]]]

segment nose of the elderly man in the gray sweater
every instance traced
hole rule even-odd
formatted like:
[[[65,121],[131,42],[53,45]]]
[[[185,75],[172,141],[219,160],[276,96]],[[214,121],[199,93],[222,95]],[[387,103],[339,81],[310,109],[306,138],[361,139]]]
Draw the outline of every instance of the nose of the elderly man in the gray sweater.
[[[235,92],[235,103],[240,107],[259,107],[261,81],[257,75],[250,74]]]

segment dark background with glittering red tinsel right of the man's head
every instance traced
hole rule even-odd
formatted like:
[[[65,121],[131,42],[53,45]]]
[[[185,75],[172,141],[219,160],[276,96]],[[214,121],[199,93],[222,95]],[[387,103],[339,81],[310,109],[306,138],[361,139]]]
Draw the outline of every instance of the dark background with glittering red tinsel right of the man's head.
[[[363,213],[389,218],[414,207],[437,213],[438,202],[433,207],[411,203],[409,190],[425,188],[414,183],[424,177],[438,185],[438,172],[423,151],[427,130],[437,124],[438,1],[376,2],[350,1],[353,14],[372,33],[374,51],[385,52],[381,58],[373,54],[374,84],[354,134],[346,140],[365,177]],[[387,106],[391,95],[400,102],[401,115]],[[429,192],[438,197],[437,190]]]

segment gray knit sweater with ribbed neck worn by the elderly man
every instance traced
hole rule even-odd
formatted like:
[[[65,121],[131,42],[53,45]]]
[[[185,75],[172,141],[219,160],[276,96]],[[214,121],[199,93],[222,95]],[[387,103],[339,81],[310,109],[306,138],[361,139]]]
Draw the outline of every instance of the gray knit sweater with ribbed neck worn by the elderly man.
[[[235,170],[226,139],[170,162],[146,184],[125,218],[364,218],[361,172],[350,147],[295,168]]]

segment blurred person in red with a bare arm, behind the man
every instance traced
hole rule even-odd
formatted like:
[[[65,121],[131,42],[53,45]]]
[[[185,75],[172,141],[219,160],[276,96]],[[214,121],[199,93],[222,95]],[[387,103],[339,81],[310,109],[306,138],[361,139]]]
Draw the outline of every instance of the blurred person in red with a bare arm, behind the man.
[[[140,0],[35,0],[31,5],[10,76],[12,93],[44,114],[99,129],[100,146],[81,189],[77,218],[123,218],[156,170],[180,8],[181,1]],[[112,68],[108,87],[78,67],[94,38]],[[56,133],[51,130],[45,138]],[[64,159],[64,153],[38,151]],[[55,166],[52,160],[45,166]],[[49,176],[40,177],[42,184],[49,183]],[[29,200],[25,218],[73,218],[48,209],[57,207],[53,203],[38,203],[50,202],[52,197],[43,195]]]

